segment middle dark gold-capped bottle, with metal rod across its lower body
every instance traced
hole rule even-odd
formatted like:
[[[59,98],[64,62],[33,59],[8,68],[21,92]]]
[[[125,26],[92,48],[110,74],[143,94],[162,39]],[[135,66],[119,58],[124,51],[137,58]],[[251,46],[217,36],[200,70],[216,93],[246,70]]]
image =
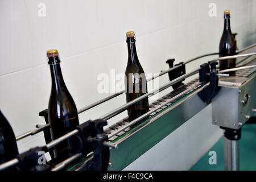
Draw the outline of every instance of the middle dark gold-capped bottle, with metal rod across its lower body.
[[[135,98],[147,93],[147,80],[136,52],[135,34],[133,31],[126,33],[128,47],[128,62],[125,71],[126,101],[130,102]],[[148,111],[148,98],[136,102],[127,108],[129,120],[133,121]]]

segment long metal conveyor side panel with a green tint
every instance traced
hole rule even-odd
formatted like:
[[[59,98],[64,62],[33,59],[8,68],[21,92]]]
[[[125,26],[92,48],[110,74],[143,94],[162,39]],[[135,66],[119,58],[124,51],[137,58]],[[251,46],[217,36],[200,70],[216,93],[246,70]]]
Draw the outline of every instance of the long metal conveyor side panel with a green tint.
[[[204,109],[207,104],[197,96],[196,93],[199,91],[200,89],[196,90],[183,101],[168,107],[152,118],[147,126],[119,143],[118,150],[110,150],[110,163],[112,163],[112,166],[108,170],[122,170],[196,115],[196,113]]]

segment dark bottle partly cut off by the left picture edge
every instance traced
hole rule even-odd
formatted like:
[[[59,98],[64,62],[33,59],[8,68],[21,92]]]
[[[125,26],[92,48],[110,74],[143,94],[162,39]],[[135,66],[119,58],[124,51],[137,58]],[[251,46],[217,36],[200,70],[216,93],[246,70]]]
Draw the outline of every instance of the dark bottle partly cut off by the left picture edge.
[[[18,154],[13,129],[0,110],[0,164],[14,159]]]

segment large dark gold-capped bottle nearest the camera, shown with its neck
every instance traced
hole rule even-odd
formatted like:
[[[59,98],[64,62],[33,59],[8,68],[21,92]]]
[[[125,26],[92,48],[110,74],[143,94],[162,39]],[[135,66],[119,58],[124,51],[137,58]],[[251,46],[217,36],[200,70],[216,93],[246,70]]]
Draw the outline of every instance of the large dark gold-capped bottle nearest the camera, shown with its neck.
[[[52,129],[52,138],[57,139],[74,130],[79,125],[75,102],[68,92],[60,69],[60,58],[57,50],[47,51],[48,64],[51,70],[52,89],[48,105],[48,119]],[[75,137],[68,138],[55,146],[57,162],[76,154]]]

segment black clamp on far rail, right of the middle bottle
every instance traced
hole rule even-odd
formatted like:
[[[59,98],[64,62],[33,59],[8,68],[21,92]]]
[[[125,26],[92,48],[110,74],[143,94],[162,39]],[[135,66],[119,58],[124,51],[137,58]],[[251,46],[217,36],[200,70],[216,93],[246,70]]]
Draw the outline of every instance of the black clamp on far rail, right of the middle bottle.
[[[166,63],[169,64],[170,68],[174,68],[172,71],[168,72],[169,80],[172,81],[182,75],[185,75],[186,69],[185,69],[185,64],[183,62],[180,62],[179,64],[174,65],[175,59],[168,59]],[[181,85],[184,85],[182,81],[185,79],[181,80],[180,82],[177,82],[176,84],[172,85],[173,89],[178,88]]]

